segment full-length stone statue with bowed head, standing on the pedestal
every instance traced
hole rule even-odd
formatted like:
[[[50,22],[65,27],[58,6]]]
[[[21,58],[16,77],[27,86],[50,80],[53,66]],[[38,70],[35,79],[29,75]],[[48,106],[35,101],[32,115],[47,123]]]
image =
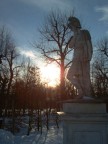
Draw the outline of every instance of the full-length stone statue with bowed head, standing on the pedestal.
[[[69,48],[73,48],[74,53],[67,79],[78,90],[76,99],[91,97],[90,61],[93,53],[91,36],[88,30],[81,29],[80,21],[76,17],[69,18],[68,26],[74,33],[69,43]]]

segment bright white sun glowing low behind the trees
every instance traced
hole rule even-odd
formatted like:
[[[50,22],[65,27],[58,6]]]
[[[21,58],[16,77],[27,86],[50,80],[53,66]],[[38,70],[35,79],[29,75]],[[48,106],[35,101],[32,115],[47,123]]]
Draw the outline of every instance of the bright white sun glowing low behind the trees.
[[[42,81],[55,87],[59,83],[60,69],[56,64],[47,64],[40,68]]]

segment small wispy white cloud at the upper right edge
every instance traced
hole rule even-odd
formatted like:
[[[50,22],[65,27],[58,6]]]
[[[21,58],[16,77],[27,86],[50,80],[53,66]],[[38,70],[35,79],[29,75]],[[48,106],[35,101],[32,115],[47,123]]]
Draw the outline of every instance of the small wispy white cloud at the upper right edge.
[[[102,17],[99,19],[100,21],[108,21],[108,6],[96,7],[97,12],[102,12]]]

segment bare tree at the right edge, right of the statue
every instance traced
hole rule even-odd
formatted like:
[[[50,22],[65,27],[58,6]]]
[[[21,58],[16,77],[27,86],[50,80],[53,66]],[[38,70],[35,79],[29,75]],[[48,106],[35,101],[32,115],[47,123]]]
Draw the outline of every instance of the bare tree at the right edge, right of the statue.
[[[108,38],[103,38],[97,44],[94,62],[94,88],[97,96],[108,96]]]

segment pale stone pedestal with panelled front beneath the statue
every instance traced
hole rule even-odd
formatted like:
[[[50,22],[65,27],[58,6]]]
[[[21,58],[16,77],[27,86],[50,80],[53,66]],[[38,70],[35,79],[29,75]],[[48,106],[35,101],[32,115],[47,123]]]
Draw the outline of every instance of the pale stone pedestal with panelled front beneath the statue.
[[[97,100],[63,103],[63,144],[108,144],[106,104]]]

